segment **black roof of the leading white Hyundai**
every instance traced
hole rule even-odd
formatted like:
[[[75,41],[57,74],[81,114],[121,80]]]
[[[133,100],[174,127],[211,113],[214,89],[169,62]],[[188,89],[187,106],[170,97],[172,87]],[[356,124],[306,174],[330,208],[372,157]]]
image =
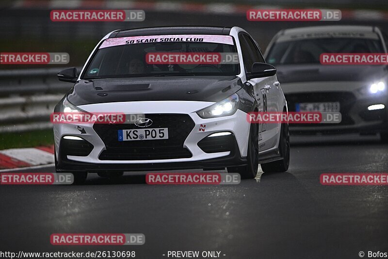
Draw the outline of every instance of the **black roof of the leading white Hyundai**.
[[[226,27],[154,27],[119,30],[112,32],[109,38],[148,36],[148,35],[175,35],[175,34],[210,34],[229,35],[231,28]]]

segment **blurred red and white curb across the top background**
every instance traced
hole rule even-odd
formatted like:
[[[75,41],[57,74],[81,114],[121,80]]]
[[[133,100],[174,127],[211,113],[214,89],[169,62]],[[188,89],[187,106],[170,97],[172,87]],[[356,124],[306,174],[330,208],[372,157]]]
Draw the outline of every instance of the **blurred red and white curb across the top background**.
[[[157,12],[207,13],[245,15],[249,9],[281,9],[292,6],[249,5],[234,3],[195,3],[171,1],[139,0],[17,0],[13,8],[46,9],[141,9]],[[342,19],[350,20],[388,20],[387,11],[378,10],[342,10]]]

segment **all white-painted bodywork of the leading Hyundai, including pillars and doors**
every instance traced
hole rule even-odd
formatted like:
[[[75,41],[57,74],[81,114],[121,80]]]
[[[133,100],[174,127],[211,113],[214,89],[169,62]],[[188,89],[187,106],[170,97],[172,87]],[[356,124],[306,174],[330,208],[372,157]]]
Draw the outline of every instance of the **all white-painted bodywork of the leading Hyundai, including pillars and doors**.
[[[113,31],[114,32],[114,31]],[[246,82],[245,77],[245,69],[243,65],[242,53],[240,42],[238,39],[239,32],[245,32],[239,27],[233,27],[230,30],[230,36],[232,36],[236,42],[239,61],[240,61],[240,74],[236,75],[241,78],[242,83]],[[82,68],[82,71],[79,75],[78,80],[81,79],[81,75],[89,63],[89,60],[92,58],[93,54],[97,50],[99,44],[108,38],[112,32],[108,33],[101,39],[101,41],[97,44],[96,48],[93,50],[91,55],[89,56],[87,62]],[[249,81],[252,85],[254,85],[255,93],[261,95],[261,87],[264,84],[269,84],[273,89],[268,92],[268,111],[280,111],[283,107],[287,107],[286,101],[284,99],[284,95],[281,91],[280,86],[275,86],[276,76],[261,78],[261,79],[253,79]],[[247,113],[237,110],[236,113],[230,116],[224,117],[216,117],[209,119],[202,119],[196,113],[198,110],[204,109],[210,105],[214,104],[214,102],[205,102],[205,101],[129,101],[129,102],[108,102],[108,103],[96,103],[96,104],[86,104],[79,105],[78,107],[86,112],[117,112],[126,114],[133,113],[180,113],[180,114],[188,114],[194,121],[194,129],[189,133],[186,138],[183,146],[186,147],[191,153],[191,158],[179,158],[179,159],[160,159],[160,160],[99,160],[98,157],[103,150],[106,149],[103,141],[97,135],[96,131],[93,129],[93,124],[88,123],[77,123],[77,124],[54,124],[54,138],[55,138],[55,148],[56,153],[59,153],[59,144],[61,139],[66,136],[78,136],[83,138],[84,140],[93,144],[94,148],[92,152],[85,157],[80,156],[69,156],[67,155],[67,159],[75,162],[86,162],[86,163],[95,163],[95,164],[144,164],[144,163],[167,163],[167,162],[194,162],[201,160],[208,160],[212,158],[220,158],[226,157],[230,154],[230,152],[218,152],[218,153],[205,153],[198,146],[197,143],[205,138],[206,136],[221,131],[229,131],[232,132],[236,138],[237,145],[239,148],[239,153],[242,158],[247,156],[248,151],[248,139],[249,139],[249,130],[250,123],[247,121],[246,116]],[[199,127],[201,124],[206,124],[206,131],[200,131]],[[83,127],[86,133],[81,134],[80,130],[77,129],[77,126]],[[152,126],[150,127],[152,128]],[[259,145],[264,144],[265,149],[272,150],[276,149],[279,144],[279,136],[280,136],[280,126],[279,125],[271,125],[268,126],[267,130],[262,132],[262,140],[259,141]],[[262,151],[262,150],[260,150]]]

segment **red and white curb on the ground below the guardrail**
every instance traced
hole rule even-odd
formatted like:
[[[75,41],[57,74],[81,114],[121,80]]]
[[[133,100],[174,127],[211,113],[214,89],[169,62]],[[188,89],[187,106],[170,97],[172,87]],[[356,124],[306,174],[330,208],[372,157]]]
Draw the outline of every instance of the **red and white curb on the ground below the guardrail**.
[[[0,171],[54,163],[54,146],[0,150]]]

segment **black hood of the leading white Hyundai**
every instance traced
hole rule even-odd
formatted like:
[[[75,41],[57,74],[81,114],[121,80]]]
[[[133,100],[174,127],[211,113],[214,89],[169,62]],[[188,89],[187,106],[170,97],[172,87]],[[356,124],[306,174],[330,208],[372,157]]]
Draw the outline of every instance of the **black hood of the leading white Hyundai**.
[[[236,76],[138,77],[80,80],[68,99],[75,105],[123,101],[217,102],[242,88]]]

